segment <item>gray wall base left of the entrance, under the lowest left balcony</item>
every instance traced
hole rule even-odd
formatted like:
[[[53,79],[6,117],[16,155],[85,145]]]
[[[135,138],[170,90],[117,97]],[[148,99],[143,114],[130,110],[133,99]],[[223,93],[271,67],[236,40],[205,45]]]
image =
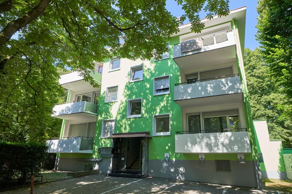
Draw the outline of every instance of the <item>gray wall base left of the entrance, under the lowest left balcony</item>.
[[[78,159],[83,159],[83,158],[58,158],[56,170],[83,171],[84,164],[94,163],[95,164],[94,170],[100,170],[101,173],[110,172],[110,163],[111,163],[110,158],[103,158],[102,161],[99,161],[99,162],[78,161]]]

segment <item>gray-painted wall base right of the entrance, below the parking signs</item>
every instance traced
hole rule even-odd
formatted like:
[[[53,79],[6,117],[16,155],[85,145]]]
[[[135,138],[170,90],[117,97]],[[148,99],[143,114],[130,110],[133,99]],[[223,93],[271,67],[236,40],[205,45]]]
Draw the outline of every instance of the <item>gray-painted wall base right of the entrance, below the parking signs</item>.
[[[149,176],[256,188],[253,161],[230,161],[231,172],[216,172],[215,161],[149,160]]]

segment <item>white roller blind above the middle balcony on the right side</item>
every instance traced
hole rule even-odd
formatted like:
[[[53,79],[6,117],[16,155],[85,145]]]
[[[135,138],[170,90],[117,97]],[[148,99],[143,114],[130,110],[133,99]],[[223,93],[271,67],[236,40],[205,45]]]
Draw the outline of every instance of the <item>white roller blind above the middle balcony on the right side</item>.
[[[208,81],[208,80],[222,79],[222,77],[220,78],[219,76],[228,75],[226,77],[232,77],[232,76],[230,76],[232,74],[233,74],[232,67],[226,67],[226,68],[222,68],[222,69],[218,69],[218,70],[200,72],[200,80],[206,79],[206,80],[202,80],[202,81]],[[214,78],[214,77],[218,77],[218,78]]]

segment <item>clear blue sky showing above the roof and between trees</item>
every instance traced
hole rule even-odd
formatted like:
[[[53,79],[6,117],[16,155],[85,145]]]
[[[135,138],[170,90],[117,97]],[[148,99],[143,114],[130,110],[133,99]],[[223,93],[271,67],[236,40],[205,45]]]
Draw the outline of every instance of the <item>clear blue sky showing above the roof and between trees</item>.
[[[230,10],[246,6],[246,26],[245,26],[245,47],[250,49],[255,49],[259,47],[259,43],[256,40],[255,34],[257,32],[256,23],[257,23],[257,15],[256,6],[258,4],[257,0],[230,0],[229,7]],[[181,6],[178,6],[175,0],[167,0],[166,1],[166,9],[171,12],[172,15],[179,17],[184,13],[184,10],[181,9]],[[206,13],[201,11],[199,13],[201,18],[206,17]],[[188,21],[184,22],[189,23]]]

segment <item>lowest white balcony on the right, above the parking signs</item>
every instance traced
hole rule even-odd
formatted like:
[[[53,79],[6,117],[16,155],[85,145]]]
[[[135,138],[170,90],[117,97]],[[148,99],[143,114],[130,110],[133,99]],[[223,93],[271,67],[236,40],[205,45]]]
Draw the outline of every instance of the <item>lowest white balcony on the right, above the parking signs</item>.
[[[177,131],[175,135],[176,153],[251,153],[246,128]]]

